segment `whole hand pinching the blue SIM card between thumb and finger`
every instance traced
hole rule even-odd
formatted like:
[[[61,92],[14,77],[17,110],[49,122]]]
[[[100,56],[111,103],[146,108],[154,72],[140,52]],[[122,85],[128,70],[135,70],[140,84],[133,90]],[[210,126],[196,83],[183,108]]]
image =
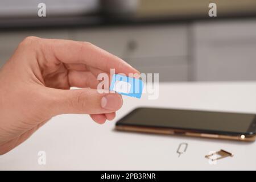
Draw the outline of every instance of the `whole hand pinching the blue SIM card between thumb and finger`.
[[[58,114],[90,114],[97,123],[112,120],[122,106],[121,95],[97,92],[97,75],[110,75],[110,68],[139,73],[90,43],[24,39],[0,70],[0,154]],[[71,86],[81,89],[69,90]]]

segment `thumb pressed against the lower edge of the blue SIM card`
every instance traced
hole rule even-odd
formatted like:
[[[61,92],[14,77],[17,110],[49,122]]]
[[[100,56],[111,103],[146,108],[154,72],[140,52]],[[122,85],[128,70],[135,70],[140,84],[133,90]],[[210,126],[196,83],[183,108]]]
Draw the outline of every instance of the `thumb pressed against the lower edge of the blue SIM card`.
[[[101,94],[97,89],[51,89],[48,96],[52,115],[113,113],[123,104],[121,95]]]

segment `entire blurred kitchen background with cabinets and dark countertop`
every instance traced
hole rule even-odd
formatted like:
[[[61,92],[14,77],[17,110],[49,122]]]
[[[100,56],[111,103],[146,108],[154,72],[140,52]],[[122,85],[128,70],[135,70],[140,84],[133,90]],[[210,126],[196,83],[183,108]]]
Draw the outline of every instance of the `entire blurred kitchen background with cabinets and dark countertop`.
[[[160,81],[256,80],[255,0],[0,0],[0,68],[26,36],[91,42]]]

